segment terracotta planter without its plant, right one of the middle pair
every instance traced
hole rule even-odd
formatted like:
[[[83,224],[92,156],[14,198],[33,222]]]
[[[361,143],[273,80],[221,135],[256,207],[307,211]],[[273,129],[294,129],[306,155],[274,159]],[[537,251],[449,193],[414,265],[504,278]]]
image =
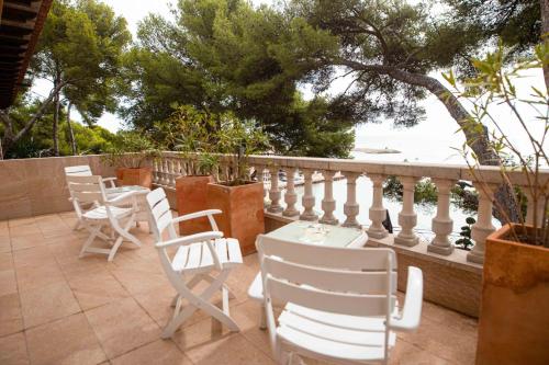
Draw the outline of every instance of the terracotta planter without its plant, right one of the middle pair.
[[[243,254],[256,252],[256,237],[265,232],[264,183],[239,186],[210,183],[206,202],[209,208],[223,210],[215,220],[225,237],[236,238]]]

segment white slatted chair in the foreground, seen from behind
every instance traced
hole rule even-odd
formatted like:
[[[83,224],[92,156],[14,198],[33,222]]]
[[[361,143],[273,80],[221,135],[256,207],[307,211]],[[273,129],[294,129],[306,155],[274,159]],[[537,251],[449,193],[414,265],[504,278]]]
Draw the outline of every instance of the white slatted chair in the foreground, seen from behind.
[[[408,269],[396,308],[396,258],[390,249],[302,244],[259,236],[267,328],[280,364],[300,355],[336,364],[386,364],[394,331],[419,326],[423,276]],[[273,301],[285,303],[278,324]]]

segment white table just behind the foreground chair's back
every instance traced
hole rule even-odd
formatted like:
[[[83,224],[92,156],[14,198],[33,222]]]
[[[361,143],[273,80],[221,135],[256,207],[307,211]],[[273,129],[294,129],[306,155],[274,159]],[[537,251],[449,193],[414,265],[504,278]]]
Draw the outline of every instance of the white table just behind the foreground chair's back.
[[[296,220],[279,229],[270,231],[266,236],[303,244],[320,244],[330,247],[363,247],[368,236],[362,229],[316,224],[312,221]],[[264,287],[261,273],[258,273],[248,288],[248,297],[258,301],[264,307]],[[264,308],[262,308],[264,309]],[[261,310],[260,329],[265,330],[265,310]]]

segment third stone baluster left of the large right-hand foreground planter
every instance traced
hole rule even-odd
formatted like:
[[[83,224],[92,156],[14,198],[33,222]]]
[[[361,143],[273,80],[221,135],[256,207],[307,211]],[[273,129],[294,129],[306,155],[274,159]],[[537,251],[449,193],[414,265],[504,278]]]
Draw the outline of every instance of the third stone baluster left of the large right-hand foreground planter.
[[[414,187],[417,178],[403,176],[399,179],[403,185],[402,210],[399,213],[399,225],[401,231],[394,238],[394,243],[413,247],[419,242],[414,233],[414,227],[417,225],[417,214],[414,212]]]

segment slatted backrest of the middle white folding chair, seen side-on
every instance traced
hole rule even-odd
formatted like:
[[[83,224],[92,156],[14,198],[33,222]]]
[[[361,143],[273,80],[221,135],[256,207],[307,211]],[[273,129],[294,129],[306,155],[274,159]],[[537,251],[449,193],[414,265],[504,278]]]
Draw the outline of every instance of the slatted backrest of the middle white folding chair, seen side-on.
[[[168,238],[176,239],[177,231],[173,225],[173,216],[164,189],[158,187],[147,194],[147,203],[153,216],[153,233],[157,242],[164,241],[164,233],[168,230]]]

